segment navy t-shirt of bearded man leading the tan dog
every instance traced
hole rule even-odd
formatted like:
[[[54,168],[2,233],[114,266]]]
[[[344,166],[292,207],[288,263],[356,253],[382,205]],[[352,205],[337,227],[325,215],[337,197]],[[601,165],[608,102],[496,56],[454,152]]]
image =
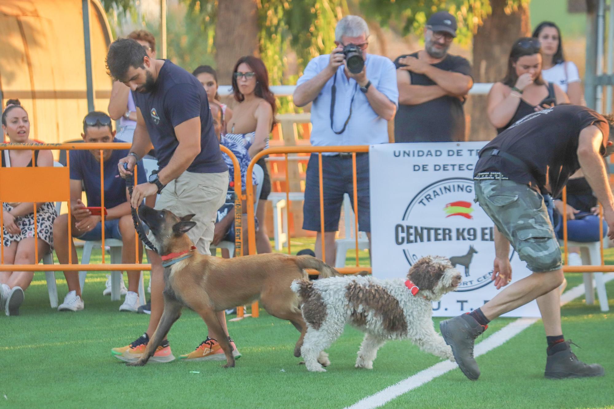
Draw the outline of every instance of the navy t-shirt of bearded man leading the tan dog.
[[[187,171],[220,173],[228,171],[213,130],[207,94],[195,76],[166,60],[149,93],[133,92],[134,103],[141,109],[160,169],[168,165],[179,145],[175,127],[200,117],[200,154]]]

